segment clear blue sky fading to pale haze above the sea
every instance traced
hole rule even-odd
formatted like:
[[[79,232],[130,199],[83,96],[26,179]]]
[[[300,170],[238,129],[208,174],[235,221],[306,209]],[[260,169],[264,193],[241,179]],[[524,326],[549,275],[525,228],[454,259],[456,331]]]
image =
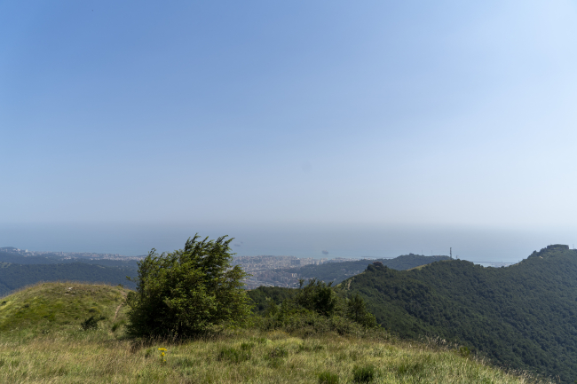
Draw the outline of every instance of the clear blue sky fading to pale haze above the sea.
[[[2,2],[0,36],[4,227],[577,230],[573,1]]]

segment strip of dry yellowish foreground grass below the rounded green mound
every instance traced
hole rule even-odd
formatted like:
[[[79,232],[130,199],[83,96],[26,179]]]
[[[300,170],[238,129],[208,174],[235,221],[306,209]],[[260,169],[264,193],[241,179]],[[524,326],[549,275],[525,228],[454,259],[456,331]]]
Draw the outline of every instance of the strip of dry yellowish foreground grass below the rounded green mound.
[[[0,381],[34,383],[528,383],[439,349],[325,333],[229,330],[193,340],[134,341],[111,322],[22,340],[0,336]],[[162,351],[165,348],[165,356]],[[370,380],[370,381],[366,381]]]

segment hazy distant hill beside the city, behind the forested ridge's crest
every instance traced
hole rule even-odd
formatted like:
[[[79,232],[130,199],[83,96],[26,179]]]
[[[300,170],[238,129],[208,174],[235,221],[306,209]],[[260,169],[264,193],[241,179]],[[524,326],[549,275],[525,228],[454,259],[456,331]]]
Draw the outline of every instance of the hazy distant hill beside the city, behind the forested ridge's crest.
[[[296,267],[286,269],[289,273],[298,274],[299,278],[318,278],[325,282],[333,282],[338,284],[345,278],[350,278],[358,275],[365,270],[368,264],[374,262],[381,262],[393,270],[409,270],[424,264],[439,262],[442,260],[450,260],[448,256],[424,256],[424,255],[401,255],[394,259],[376,259],[376,260],[356,260],[353,262],[342,263],[324,263],[320,265],[305,265],[304,267]]]

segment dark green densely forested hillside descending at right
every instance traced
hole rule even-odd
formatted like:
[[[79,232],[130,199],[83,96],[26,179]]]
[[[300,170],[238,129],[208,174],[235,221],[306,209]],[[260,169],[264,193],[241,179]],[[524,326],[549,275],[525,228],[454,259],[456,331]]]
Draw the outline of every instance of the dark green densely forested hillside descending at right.
[[[402,337],[459,341],[511,368],[577,379],[577,252],[549,246],[507,268],[466,261],[368,266],[340,286]]]

